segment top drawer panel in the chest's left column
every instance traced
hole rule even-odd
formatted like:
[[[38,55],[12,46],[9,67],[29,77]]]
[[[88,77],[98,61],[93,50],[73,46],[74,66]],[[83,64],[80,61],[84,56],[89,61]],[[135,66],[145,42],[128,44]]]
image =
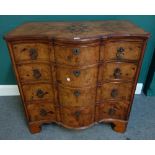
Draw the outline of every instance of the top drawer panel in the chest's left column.
[[[44,43],[18,43],[13,45],[15,61],[49,61],[49,46]]]

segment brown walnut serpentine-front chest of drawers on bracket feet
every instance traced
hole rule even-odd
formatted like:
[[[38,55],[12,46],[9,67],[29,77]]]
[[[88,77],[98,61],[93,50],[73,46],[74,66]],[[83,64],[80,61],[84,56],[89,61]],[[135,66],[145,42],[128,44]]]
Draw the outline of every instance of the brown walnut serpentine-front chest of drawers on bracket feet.
[[[5,35],[30,131],[124,132],[148,37],[128,21],[32,22]]]

